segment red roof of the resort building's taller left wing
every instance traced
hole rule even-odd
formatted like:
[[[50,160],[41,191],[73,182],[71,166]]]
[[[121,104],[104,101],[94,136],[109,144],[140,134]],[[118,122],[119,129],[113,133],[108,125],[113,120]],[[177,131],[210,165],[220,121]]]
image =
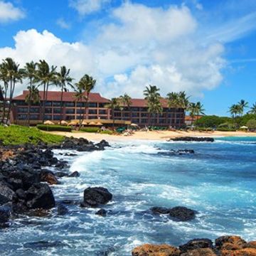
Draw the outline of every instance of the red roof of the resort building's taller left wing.
[[[18,95],[14,97],[13,100],[25,100],[26,95],[28,95],[28,90],[23,90],[22,95]],[[43,91],[39,92],[39,95],[41,99],[43,99]],[[61,92],[58,91],[48,91],[47,100],[48,101],[60,101]],[[63,101],[64,102],[73,102],[75,101],[75,92],[63,92]],[[82,100],[85,102],[85,100]],[[100,103],[107,103],[109,100],[107,100],[105,97],[102,97],[100,93],[97,92],[91,92],[89,95],[89,102],[100,102]]]

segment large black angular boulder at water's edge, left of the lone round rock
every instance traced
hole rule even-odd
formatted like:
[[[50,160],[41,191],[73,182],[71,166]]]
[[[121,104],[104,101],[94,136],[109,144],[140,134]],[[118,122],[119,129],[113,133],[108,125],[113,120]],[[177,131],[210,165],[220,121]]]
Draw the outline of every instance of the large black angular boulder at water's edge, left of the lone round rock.
[[[36,183],[26,191],[28,208],[50,209],[55,206],[55,199],[50,187],[45,183]]]

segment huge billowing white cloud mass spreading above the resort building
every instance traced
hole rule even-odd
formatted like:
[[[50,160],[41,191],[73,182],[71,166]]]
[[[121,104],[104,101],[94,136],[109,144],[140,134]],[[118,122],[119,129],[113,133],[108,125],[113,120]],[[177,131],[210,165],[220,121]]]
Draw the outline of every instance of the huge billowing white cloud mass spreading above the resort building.
[[[220,85],[224,47],[198,38],[198,22],[186,6],[162,9],[128,2],[110,16],[112,23],[102,26],[90,44],[31,29],[14,36],[14,48],[0,48],[0,58],[10,56],[21,65],[45,59],[66,65],[76,79],[89,73],[106,97],[124,92],[142,97],[149,84],[160,87],[162,95],[186,90],[200,96]]]

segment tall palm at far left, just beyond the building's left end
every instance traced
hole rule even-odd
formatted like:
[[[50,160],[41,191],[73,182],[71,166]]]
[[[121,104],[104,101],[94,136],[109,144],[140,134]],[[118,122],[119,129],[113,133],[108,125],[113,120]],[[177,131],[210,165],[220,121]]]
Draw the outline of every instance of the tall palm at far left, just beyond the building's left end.
[[[23,71],[19,68],[19,64],[16,63],[12,58],[6,58],[3,60],[4,73],[6,81],[9,82],[9,109],[7,112],[7,120],[10,119],[12,99],[14,97],[14,91],[17,82],[22,83]]]

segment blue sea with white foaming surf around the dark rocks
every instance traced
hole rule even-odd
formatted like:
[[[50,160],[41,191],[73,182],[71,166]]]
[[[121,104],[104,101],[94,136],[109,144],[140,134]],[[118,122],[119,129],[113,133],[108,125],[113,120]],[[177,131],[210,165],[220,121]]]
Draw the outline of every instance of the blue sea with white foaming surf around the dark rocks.
[[[195,154],[169,154],[193,149]],[[144,243],[181,245],[193,238],[241,235],[256,240],[256,137],[217,138],[205,142],[112,143],[105,151],[62,156],[79,178],[61,178],[52,186],[56,201],[82,201],[88,186],[113,194],[105,210],[67,205],[45,218],[21,218],[0,230],[0,255],[131,255]],[[69,151],[71,152],[71,151]],[[186,206],[196,219],[175,222],[152,215],[152,206]],[[31,244],[44,241],[48,244]]]

